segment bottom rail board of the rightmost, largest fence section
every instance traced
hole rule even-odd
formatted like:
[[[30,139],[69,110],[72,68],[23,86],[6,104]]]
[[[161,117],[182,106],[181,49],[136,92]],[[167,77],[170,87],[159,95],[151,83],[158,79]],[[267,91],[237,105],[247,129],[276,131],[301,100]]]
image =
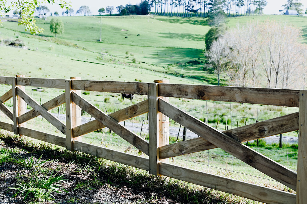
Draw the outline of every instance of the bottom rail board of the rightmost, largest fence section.
[[[296,195],[171,164],[160,163],[160,174],[269,204],[295,204]]]

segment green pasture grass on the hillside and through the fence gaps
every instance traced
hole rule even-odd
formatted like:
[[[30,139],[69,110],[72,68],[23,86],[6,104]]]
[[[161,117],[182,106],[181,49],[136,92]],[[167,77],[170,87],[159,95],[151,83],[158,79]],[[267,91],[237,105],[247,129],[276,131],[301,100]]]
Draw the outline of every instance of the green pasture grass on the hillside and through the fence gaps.
[[[153,82],[155,79],[169,79],[170,83],[217,84],[216,76],[203,71],[204,36],[210,29],[204,18],[179,18],[160,16],[128,17],[61,17],[65,33],[54,38],[49,32],[49,21],[37,21],[45,31],[40,36],[32,36],[18,27],[16,22],[6,21],[0,27],[0,39],[21,39],[29,49],[0,46],[0,75],[14,76],[24,74],[26,77],[69,79],[81,76],[82,79],[108,81],[142,81]],[[307,42],[307,18],[294,16],[243,16],[229,18],[227,25],[231,28],[250,21],[267,19],[287,22],[302,29],[302,40]],[[137,36],[137,35],[140,36]],[[98,41],[100,38],[102,41]],[[127,36],[127,38],[125,38]],[[227,78],[222,76],[222,84]],[[37,102],[43,103],[62,93],[62,90],[45,89],[44,92],[33,91],[36,87],[27,87],[26,91]],[[9,86],[0,87],[3,94]],[[146,99],[146,96],[135,96],[132,102],[123,101],[120,94],[81,93],[101,110],[112,113],[123,107]],[[293,112],[297,108],[262,106],[228,102],[211,102],[171,98],[170,102],[187,111],[200,120],[220,130],[243,126]],[[11,102],[6,102],[11,107]],[[30,109],[30,107],[28,107]],[[51,111],[65,112],[65,107]],[[90,117],[84,114],[84,117]],[[131,119],[132,123],[141,123],[146,115]],[[2,121],[4,120],[1,115]],[[146,123],[146,120],[145,120]],[[148,123],[148,121],[147,121]],[[38,125],[39,124],[39,125]],[[170,121],[174,127],[179,124]],[[28,122],[28,127],[44,129],[45,132],[61,135],[45,119],[36,118]],[[137,130],[137,134],[139,134]],[[143,133],[146,138],[146,133]],[[284,137],[297,137],[289,133]],[[171,136],[171,142],[176,142]],[[175,139],[174,139],[175,138]],[[181,139],[181,138],[180,138]],[[103,129],[84,136],[84,141],[125,151],[129,144],[115,134]],[[250,144],[253,145],[253,144]],[[291,169],[297,167],[297,149],[292,144],[282,148],[275,144],[254,147]],[[133,154],[138,154],[133,151]],[[273,181],[261,175],[259,171],[248,167],[221,149],[180,156],[171,160],[193,169],[216,173],[219,175],[251,181],[261,185],[275,185]],[[244,172],[244,174],[243,174]],[[247,176],[248,175],[248,176]],[[273,183],[273,184],[272,184]],[[275,186],[289,190],[282,185]]]

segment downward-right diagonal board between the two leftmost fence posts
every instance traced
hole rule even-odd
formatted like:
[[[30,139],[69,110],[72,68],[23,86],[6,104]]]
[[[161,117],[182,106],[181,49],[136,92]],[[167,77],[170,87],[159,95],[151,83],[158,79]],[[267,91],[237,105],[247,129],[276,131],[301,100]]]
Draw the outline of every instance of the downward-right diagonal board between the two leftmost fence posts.
[[[66,132],[65,124],[54,117],[51,113],[48,112],[43,106],[33,100],[28,94],[23,92],[19,87],[17,87],[18,95],[34,110],[41,114],[48,122],[50,122],[54,127],[60,130],[63,134]]]

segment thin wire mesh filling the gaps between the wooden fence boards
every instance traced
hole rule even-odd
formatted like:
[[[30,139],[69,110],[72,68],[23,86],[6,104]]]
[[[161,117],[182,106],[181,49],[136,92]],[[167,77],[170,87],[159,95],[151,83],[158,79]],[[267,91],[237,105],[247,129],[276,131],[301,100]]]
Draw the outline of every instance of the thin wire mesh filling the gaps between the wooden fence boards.
[[[6,93],[9,88],[10,86],[3,85],[1,94]],[[37,101],[40,105],[64,93],[62,89],[51,88],[45,88],[42,92],[39,92],[37,91],[36,87],[26,87],[25,92],[27,92],[31,98]],[[134,99],[131,101],[127,99],[123,100],[119,93],[95,91],[81,92],[81,96],[106,114],[115,113],[116,111],[147,99],[146,95],[135,95]],[[278,107],[277,109],[275,106],[271,107],[257,104],[242,105],[241,103],[235,102],[213,102],[210,100],[187,99],[179,97],[170,98],[170,103],[178,106],[181,110],[184,110],[185,113],[191,114],[192,116],[204,121],[206,124],[220,131],[254,124],[256,121],[265,121],[269,119],[268,117],[274,118],[281,116],[281,114],[278,114],[278,110],[281,110],[282,114],[284,115],[296,112],[298,110],[297,108],[289,107]],[[12,107],[11,100],[5,102],[4,104],[7,107]],[[25,109],[26,111],[32,110],[29,105]],[[241,109],[244,110],[241,111]],[[57,106],[56,108],[50,110],[50,112],[54,117],[58,118],[62,122],[65,122],[65,105]],[[77,117],[77,119],[81,120],[81,124],[95,120],[95,118],[90,114],[87,114],[84,111],[82,111],[82,113],[83,114],[80,117]],[[248,114],[248,116],[246,116],[246,114]],[[9,121],[9,118],[1,113],[1,121]],[[185,140],[191,140],[199,137],[189,129],[187,129],[184,133],[184,127],[172,119],[167,119],[162,122],[169,123],[169,128],[167,131],[162,131],[162,133],[169,135],[170,144],[181,142],[184,137]],[[129,120],[120,122],[120,124],[146,141],[149,140],[150,123],[148,120],[148,113],[132,117]],[[58,129],[56,129],[41,116],[27,121],[26,126],[37,130],[42,129],[45,132],[64,137],[64,135]],[[94,144],[120,152],[129,152],[131,155],[149,158],[146,154],[139,151],[138,148],[135,148],[133,145],[129,144],[121,136],[117,135],[112,130],[110,131],[107,127],[99,129],[95,132],[87,133],[81,137],[82,142],[86,142],[88,144]],[[280,136],[271,136],[271,138],[279,139]],[[249,141],[249,143],[254,143],[251,148],[257,152],[269,157],[272,156],[274,157],[273,160],[276,160],[277,162],[284,164],[286,167],[297,171],[297,151],[293,151],[293,148],[290,147],[291,145],[298,143],[296,133],[290,132],[289,134],[283,134],[282,139],[284,142],[284,148],[280,149],[273,148],[274,146],[271,144],[263,146],[263,141],[261,140]],[[274,143],[275,140],[271,140],[271,142],[267,143]],[[167,145],[167,143],[163,144]],[[275,179],[272,179],[253,167],[250,167],[243,161],[237,159],[231,154],[228,154],[220,148],[170,157],[168,161],[169,164],[175,164],[189,169],[204,171],[210,174],[217,174],[231,179],[248,181],[258,185],[276,185],[279,190],[290,191],[289,188],[276,182]]]

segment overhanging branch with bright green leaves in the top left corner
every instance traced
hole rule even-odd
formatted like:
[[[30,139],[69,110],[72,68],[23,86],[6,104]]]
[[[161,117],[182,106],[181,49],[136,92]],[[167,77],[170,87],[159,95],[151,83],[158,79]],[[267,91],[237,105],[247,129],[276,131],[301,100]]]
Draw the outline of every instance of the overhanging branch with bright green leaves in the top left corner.
[[[20,13],[20,19],[18,20],[18,25],[25,26],[25,31],[29,31],[31,34],[39,34],[42,33],[44,29],[39,28],[35,24],[34,13],[36,8],[43,4],[58,4],[61,8],[70,7],[70,3],[65,0],[33,0],[33,1],[20,1],[20,0],[12,0],[12,1],[0,1],[0,17],[4,17],[6,13],[11,10],[17,9]],[[2,21],[0,18],[0,25]]]

